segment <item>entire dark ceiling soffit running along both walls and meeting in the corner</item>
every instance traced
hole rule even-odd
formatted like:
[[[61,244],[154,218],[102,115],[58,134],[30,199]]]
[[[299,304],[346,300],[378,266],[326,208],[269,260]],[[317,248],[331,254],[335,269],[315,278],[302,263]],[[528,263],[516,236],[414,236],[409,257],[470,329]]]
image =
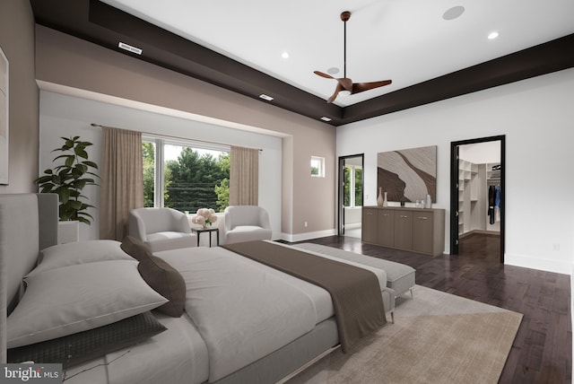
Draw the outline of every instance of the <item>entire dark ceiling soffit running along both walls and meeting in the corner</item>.
[[[341,108],[97,0],[30,0],[36,22],[270,105],[340,126],[574,66],[574,34]],[[117,41],[143,49],[137,56]],[[262,101],[266,102],[266,101]]]

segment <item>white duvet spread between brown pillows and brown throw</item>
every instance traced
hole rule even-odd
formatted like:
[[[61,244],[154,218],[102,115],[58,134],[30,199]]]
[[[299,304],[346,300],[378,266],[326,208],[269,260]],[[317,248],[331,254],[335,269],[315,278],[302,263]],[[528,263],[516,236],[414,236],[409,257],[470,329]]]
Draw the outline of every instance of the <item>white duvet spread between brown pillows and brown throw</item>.
[[[226,249],[174,249],[156,256],[186,281],[185,308],[207,345],[210,381],[256,362],[317,324],[307,292]]]

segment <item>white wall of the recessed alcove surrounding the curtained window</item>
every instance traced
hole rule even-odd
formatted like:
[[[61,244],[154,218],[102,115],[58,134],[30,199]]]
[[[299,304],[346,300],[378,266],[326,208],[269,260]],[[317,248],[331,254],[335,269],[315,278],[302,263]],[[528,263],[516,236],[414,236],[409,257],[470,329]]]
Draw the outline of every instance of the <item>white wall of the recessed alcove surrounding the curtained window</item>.
[[[52,168],[51,153],[63,144],[61,136],[81,136],[93,143],[90,159],[100,164],[101,130],[96,123],[145,133],[170,135],[220,144],[240,145],[261,149],[259,156],[259,205],[269,212],[274,238],[281,233],[281,158],[282,139],[272,135],[218,127],[186,118],[174,118],[140,109],[131,109],[95,100],[66,96],[55,92],[40,92],[39,103],[39,172]],[[85,195],[92,205],[99,205],[100,188],[87,187]],[[80,240],[99,239],[99,214],[91,212],[95,221],[81,224]]]

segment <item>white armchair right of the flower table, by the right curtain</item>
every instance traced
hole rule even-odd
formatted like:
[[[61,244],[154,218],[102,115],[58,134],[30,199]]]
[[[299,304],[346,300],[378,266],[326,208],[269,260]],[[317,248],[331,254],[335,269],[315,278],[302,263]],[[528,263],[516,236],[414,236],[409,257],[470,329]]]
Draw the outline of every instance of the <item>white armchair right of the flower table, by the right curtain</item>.
[[[269,214],[257,205],[232,205],[225,208],[225,243],[271,240]]]

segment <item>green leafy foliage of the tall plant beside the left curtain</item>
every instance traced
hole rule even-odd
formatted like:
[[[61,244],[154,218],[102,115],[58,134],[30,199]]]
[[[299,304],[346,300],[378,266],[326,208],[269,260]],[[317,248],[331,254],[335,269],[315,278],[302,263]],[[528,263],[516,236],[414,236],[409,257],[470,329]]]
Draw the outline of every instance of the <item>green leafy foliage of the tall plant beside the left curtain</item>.
[[[93,217],[87,210],[94,205],[85,202],[87,197],[82,195],[82,190],[88,185],[98,185],[95,178],[100,176],[91,171],[97,170],[98,165],[88,160],[86,147],[91,143],[81,141],[80,136],[62,139],[65,143],[52,152],[61,153],[53,161],[62,159],[64,163],[53,170],[44,170],[45,175],[36,179],[36,183],[41,193],[57,194],[60,221],[78,221],[89,225]]]

